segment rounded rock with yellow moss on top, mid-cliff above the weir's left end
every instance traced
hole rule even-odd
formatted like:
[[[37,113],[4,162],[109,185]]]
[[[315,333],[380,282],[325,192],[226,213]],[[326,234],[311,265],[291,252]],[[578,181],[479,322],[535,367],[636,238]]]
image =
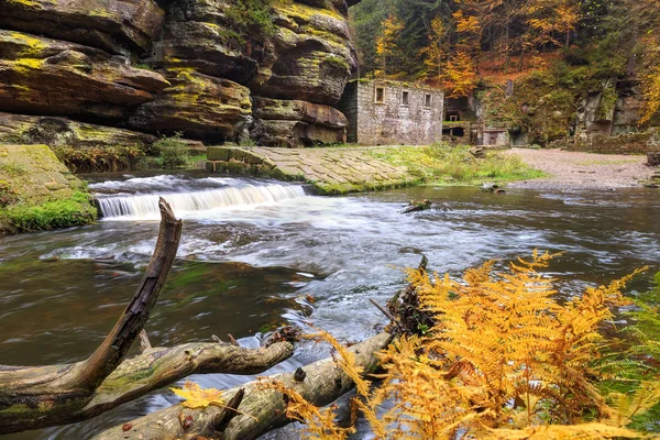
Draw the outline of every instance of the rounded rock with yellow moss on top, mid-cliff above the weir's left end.
[[[212,142],[237,140],[252,113],[250,90],[229,79],[191,68],[168,69],[172,86],[153,102],[140,106],[129,124],[136,130],[201,138]]]

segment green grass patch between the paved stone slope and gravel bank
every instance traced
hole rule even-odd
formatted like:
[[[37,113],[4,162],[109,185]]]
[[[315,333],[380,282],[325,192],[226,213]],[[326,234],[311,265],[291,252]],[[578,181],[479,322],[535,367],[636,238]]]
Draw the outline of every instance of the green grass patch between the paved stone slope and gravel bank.
[[[487,180],[512,182],[542,177],[517,156],[490,152],[475,158],[468,145],[435,144],[430,146],[385,147],[370,151],[395,166],[405,166],[420,182],[433,185],[474,185]]]

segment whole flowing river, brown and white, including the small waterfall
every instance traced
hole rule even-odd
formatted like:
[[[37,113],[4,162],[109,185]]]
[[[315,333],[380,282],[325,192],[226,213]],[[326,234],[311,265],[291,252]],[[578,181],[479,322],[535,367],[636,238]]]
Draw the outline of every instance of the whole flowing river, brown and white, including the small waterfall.
[[[293,184],[185,175],[125,176],[91,189],[105,215],[98,224],[0,243],[0,364],[73,362],[99,344],[148,262],[158,196],[184,232],[146,326],[154,345],[232,333],[257,346],[282,323],[362,340],[384,322],[369,298],[384,304],[405,285],[400,268],[422,253],[430,268],[458,275],[486,258],[564,251],[548,272],[563,296],[644,265],[660,270],[660,198],[648,189],[424,187],[328,198]],[[421,198],[444,208],[400,212]],[[648,278],[631,288],[647,288]],[[324,354],[302,345],[273,371]],[[193,377],[218,388],[251,378]],[[176,402],[163,389],[92,420],[0,439],[85,439]]]

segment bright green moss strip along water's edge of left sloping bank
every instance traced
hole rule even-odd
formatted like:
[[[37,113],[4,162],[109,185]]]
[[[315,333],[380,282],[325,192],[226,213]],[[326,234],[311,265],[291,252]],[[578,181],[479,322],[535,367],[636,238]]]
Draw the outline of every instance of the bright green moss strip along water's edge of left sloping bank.
[[[89,224],[97,218],[90,201],[88,194],[77,190],[69,198],[40,205],[12,204],[0,211],[0,234]]]

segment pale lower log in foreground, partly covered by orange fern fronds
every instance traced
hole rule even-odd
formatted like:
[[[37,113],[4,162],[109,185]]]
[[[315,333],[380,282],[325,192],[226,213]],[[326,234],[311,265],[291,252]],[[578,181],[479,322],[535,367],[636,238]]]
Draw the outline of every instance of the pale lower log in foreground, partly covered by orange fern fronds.
[[[374,354],[387,346],[391,341],[391,334],[381,333],[349,350],[355,354],[356,364],[369,373],[377,365]],[[354,386],[332,358],[309,364],[302,367],[302,371],[304,375],[298,371],[276,374],[268,378],[298,392],[317,406],[337,400]],[[244,393],[238,408],[240,413],[235,414],[229,422],[223,415],[231,411],[230,409],[213,405],[191,409],[179,404],[111,428],[95,437],[95,440],[174,440],[196,437],[224,440],[255,439],[292,422],[286,417],[287,404],[284,396],[277,391],[264,389],[258,384],[258,381],[252,382],[223,393],[224,402],[231,402],[238,393]]]

